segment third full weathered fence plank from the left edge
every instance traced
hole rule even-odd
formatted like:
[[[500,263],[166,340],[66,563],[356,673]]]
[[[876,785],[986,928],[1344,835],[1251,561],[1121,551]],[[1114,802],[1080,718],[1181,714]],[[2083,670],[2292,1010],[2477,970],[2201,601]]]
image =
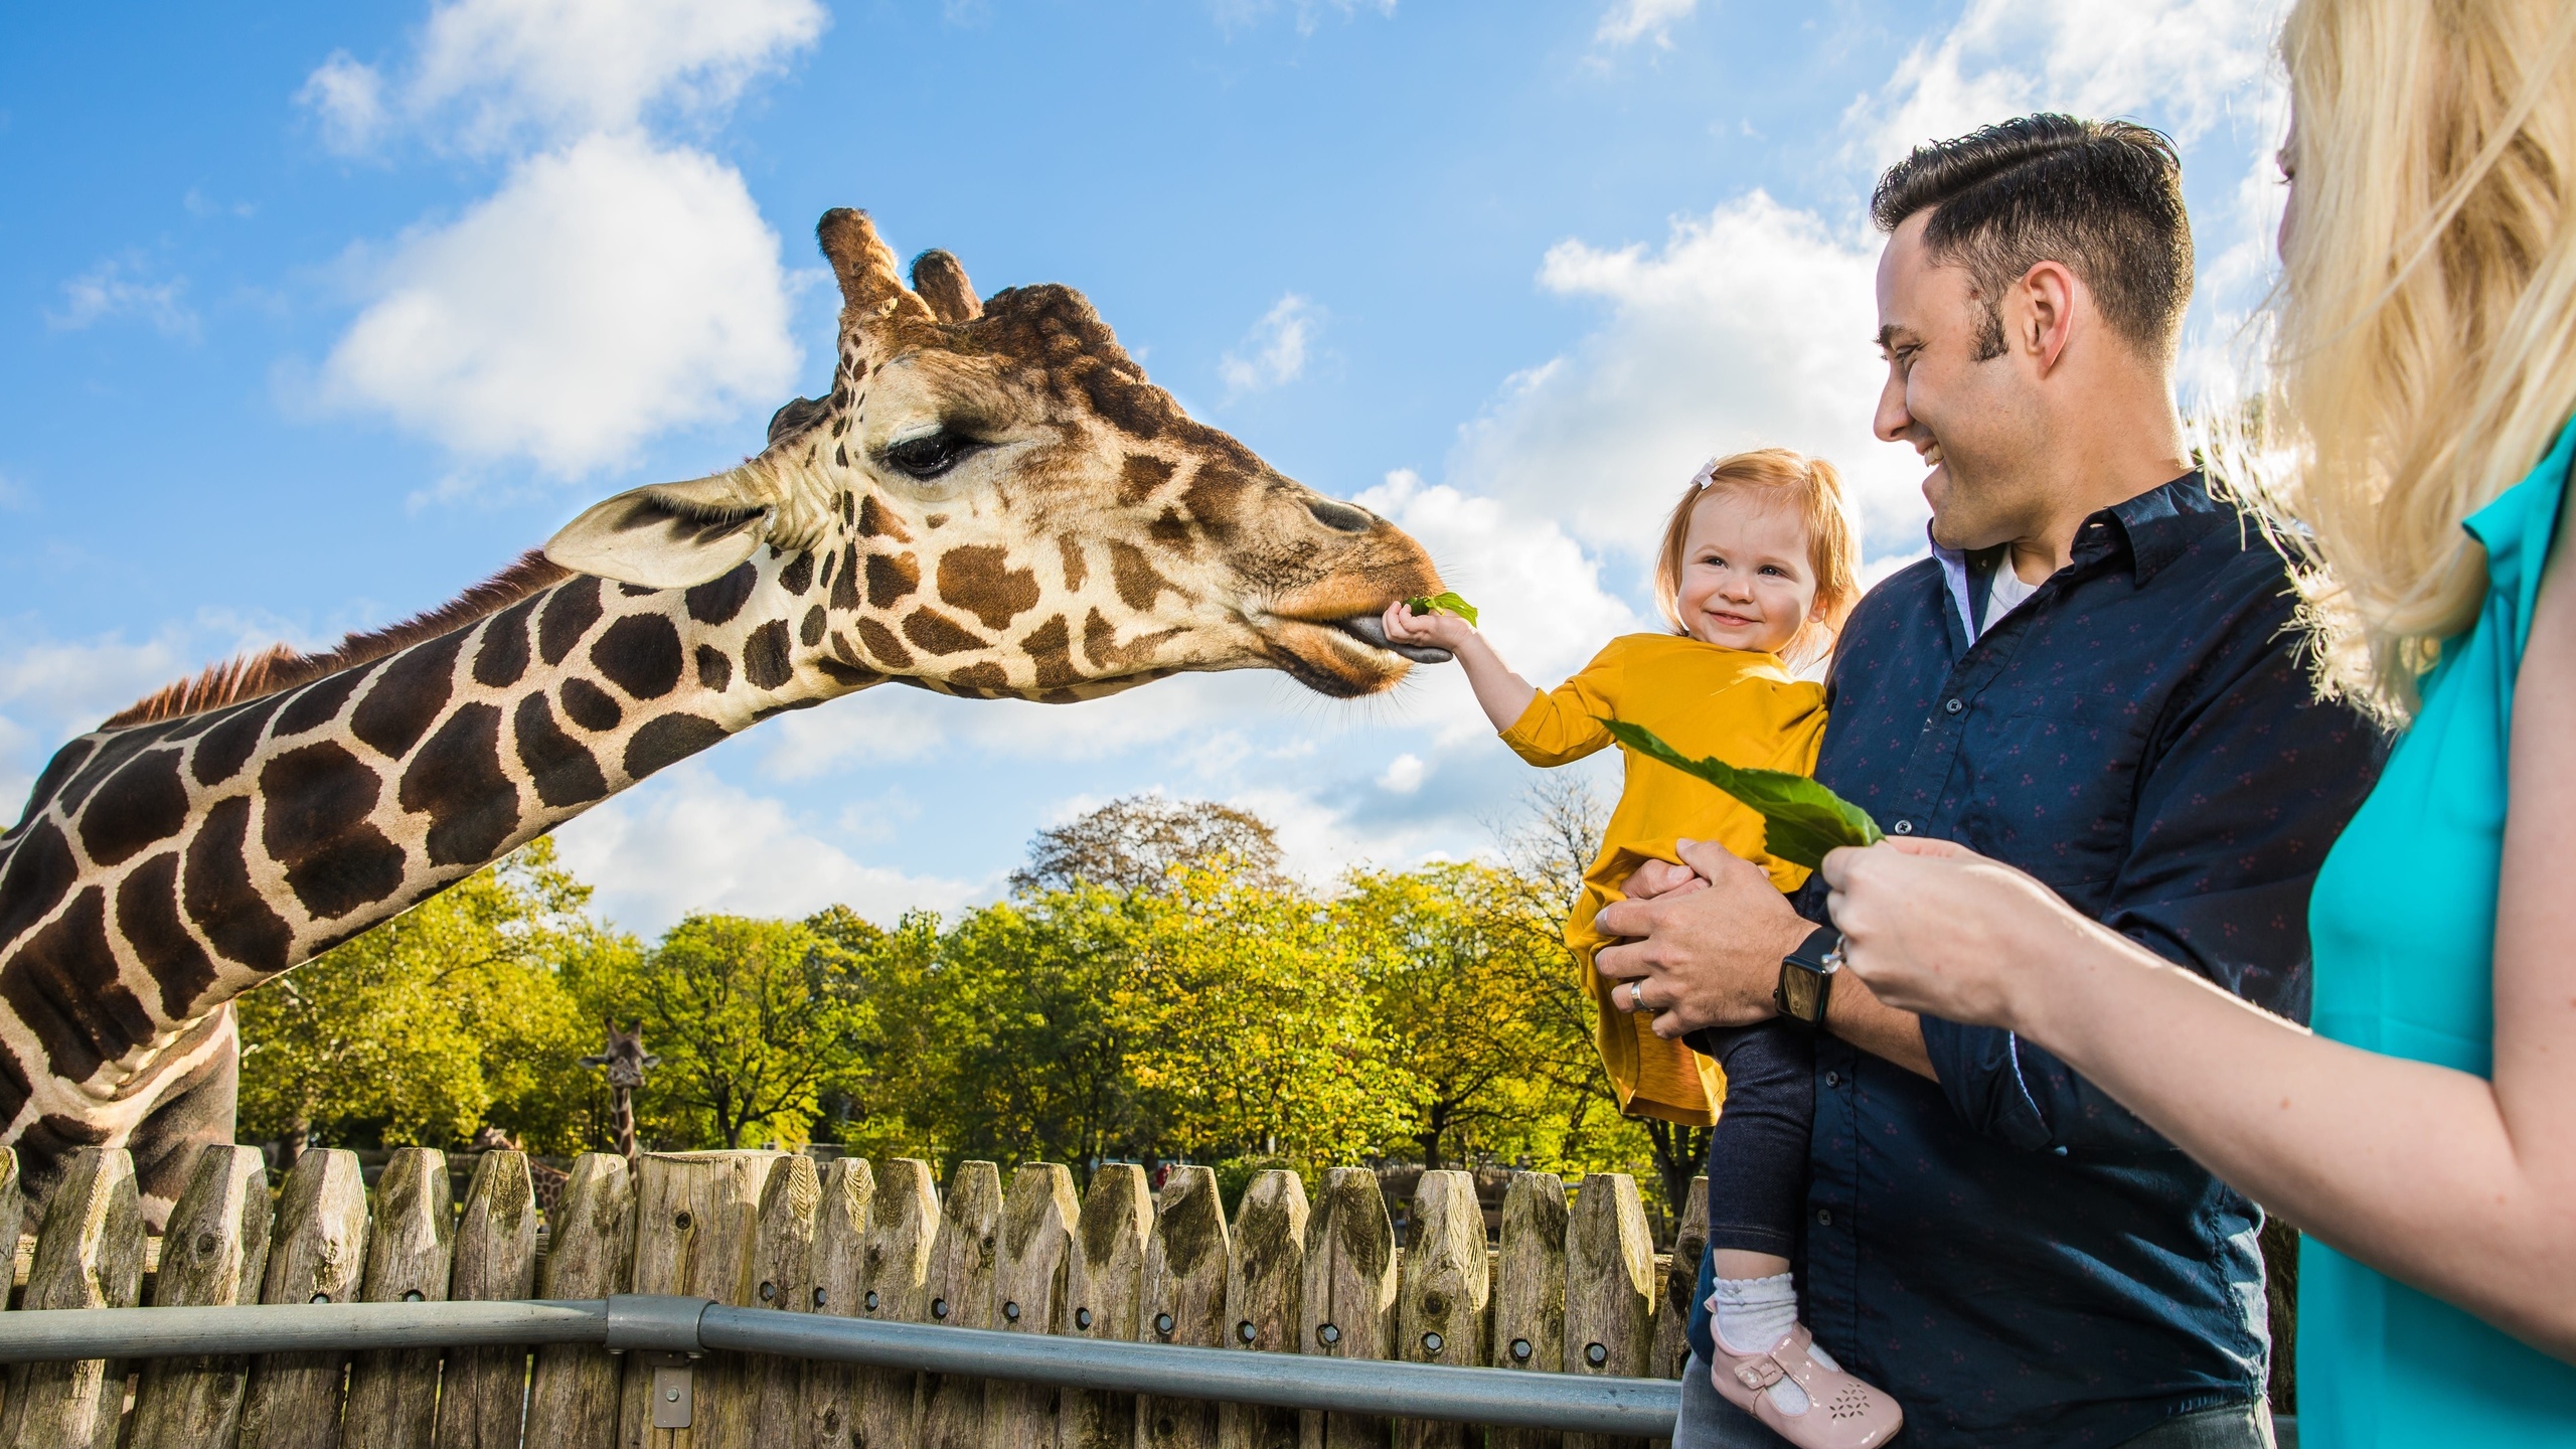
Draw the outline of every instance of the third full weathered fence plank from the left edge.
[[[366,1274],[366,1176],[358,1152],[314,1147],[296,1158],[278,1194],[260,1302],[358,1302]],[[340,1444],[340,1379],[348,1354],[265,1354],[250,1361],[242,1449],[332,1449]]]

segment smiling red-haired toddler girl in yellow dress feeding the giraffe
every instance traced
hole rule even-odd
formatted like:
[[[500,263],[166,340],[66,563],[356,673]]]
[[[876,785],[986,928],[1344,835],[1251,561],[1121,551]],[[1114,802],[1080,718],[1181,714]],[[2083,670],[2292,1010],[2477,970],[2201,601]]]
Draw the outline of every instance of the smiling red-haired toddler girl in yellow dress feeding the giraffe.
[[[1453,614],[1386,611],[1386,634],[1440,645],[1466,668],[1486,717],[1533,766],[1579,761],[1610,732],[1602,719],[1654,730],[1674,750],[1731,766],[1814,773],[1824,686],[1793,676],[1821,663],[1860,593],[1857,539],[1842,480],[1824,459],[1759,449],[1710,462],[1690,480],[1656,562],[1656,603],[1672,634],[1628,634],[1548,694],[1512,673]],[[1649,861],[1677,861],[1674,841],[1716,841],[1762,866],[1783,892],[1806,869],[1762,848],[1762,817],[1726,792],[1628,758],[1625,786],[1600,859],[1566,920],[1597,1008],[1602,1062],[1631,1116],[1713,1127],[1708,1142],[1708,1250],[1716,1256],[1716,1359],[1710,1379],[1790,1444],[1865,1449],[1904,1423],[1896,1400],[1842,1372],[1798,1323],[1788,1253],[1806,1207],[1808,1127],[1816,1116],[1806,1026],[1654,1034],[1625,985],[1605,990],[1592,954],[1613,938],[1592,918],[1620,900],[1618,882]],[[1721,1111],[1723,1106],[1723,1111]]]

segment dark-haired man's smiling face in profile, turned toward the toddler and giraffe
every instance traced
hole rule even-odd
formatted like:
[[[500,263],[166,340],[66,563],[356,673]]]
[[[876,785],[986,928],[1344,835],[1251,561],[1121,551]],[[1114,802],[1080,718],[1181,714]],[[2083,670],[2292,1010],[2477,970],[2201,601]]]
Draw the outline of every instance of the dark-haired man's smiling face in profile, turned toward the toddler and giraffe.
[[[1924,248],[1929,222],[1929,209],[1906,217],[1878,255],[1878,351],[1888,382],[1875,431],[1932,464],[1924,474],[1932,541],[1986,549],[2045,516],[2048,500],[2027,467],[2040,433],[2038,397],[2004,345],[2012,309],[1996,335],[1968,271],[1937,263]]]

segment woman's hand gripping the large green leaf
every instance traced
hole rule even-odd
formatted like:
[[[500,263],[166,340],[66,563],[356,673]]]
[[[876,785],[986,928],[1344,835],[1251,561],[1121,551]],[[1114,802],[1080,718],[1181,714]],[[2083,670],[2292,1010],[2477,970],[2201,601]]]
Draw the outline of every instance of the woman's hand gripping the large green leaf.
[[[2025,1031],[2050,962],[2099,931],[2038,879],[1955,841],[1824,856],[1842,959],[1888,1006]]]

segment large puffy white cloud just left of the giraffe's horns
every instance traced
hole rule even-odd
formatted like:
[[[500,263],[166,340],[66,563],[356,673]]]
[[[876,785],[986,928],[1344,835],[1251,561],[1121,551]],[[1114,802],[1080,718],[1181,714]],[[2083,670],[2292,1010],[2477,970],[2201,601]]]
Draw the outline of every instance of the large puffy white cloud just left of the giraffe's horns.
[[[775,402],[801,361],[778,235],[742,175],[636,137],[523,160],[371,273],[322,364],[322,402],[567,477]]]

